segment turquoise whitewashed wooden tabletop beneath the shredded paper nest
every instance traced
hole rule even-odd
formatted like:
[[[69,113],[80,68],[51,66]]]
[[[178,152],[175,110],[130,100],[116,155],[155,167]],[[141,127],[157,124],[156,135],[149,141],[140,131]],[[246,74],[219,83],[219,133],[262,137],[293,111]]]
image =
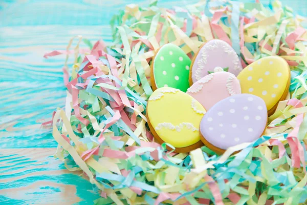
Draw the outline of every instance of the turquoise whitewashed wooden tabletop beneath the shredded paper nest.
[[[57,144],[51,129],[41,129],[65,100],[64,56],[45,59],[43,54],[64,50],[74,35],[109,42],[111,17],[126,4],[148,2],[0,1],[0,204],[93,204],[99,198],[80,172],[66,170],[53,157]],[[195,2],[162,0],[158,5]],[[282,2],[306,14],[307,1]]]

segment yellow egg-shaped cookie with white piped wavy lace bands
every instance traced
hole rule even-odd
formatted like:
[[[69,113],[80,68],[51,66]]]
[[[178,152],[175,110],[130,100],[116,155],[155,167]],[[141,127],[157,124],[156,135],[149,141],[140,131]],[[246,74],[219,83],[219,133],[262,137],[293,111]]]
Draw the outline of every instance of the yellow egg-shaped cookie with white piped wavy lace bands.
[[[147,104],[147,120],[155,139],[167,142],[175,152],[189,152],[203,145],[199,133],[204,107],[190,95],[174,88],[159,88]]]

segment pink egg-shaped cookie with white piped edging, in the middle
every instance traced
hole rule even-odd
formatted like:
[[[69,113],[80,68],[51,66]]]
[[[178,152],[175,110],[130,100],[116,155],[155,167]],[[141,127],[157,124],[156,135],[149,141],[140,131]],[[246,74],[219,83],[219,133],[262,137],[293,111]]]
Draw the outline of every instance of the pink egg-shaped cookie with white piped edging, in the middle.
[[[240,94],[239,80],[229,72],[214,72],[198,80],[187,91],[209,110],[218,101],[231,95]]]

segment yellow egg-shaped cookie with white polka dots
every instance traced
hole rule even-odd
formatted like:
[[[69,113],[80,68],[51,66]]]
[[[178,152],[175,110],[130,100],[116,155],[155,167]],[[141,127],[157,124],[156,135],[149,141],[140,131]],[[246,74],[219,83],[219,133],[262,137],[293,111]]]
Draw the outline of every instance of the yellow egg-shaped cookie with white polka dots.
[[[265,101],[269,116],[274,113],[279,101],[286,99],[291,81],[289,65],[279,56],[256,60],[237,78],[242,93],[259,96]]]

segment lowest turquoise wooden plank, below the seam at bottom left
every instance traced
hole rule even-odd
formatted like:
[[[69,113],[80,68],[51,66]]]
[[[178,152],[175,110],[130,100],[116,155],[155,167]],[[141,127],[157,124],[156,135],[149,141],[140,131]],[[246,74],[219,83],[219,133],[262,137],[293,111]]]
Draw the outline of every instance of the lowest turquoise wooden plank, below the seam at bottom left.
[[[55,159],[55,150],[0,149],[0,204],[92,204],[98,193]]]

